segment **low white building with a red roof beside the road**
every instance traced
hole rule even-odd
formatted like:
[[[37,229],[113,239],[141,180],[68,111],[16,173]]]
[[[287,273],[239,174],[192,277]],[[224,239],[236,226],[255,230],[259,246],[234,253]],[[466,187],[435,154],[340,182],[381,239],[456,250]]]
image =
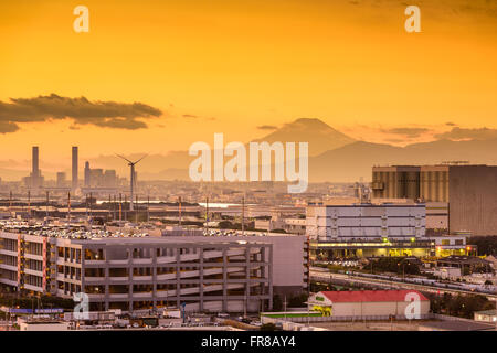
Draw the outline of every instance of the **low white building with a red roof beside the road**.
[[[430,300],[416,290],[320,291],[308,300],[309,310],[356,319],[423,319]]]

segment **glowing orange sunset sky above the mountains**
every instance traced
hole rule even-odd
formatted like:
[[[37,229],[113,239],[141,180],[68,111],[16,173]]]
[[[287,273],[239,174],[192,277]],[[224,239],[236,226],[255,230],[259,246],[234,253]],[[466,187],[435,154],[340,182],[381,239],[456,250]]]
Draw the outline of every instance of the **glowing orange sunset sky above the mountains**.
[[[495,2],[416,1],[414,34],[402,3],[2,1],[0,101],[55,93],[165,114],[138,130],[20,124],[0,135],[1,159],[29,159],[32,145],[67,161],[72,145],[82,157],[166,153],[213,132],[247,141],[267,133],[257,126],[300,117],[370,141],[399,139],[381,129],[445,131],[448,121],[497,128]],[[73,31],[77,4],[89,8],[89,33]]]

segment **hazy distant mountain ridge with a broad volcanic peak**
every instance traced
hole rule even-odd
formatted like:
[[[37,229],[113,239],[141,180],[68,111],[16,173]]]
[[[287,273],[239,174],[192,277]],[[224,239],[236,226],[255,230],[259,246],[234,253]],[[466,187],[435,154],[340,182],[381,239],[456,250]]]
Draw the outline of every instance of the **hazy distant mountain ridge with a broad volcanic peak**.
[[[497,164],[497,139],[468,141],[442,139],[396,147],[353,140],[319,119],[297,119],[254,141],[309,142],[310,182],[353,182],[361,176],[370,180],[371,168],[378,164],[433,164],[454,160]],[[126,157],[135,160],[144,154],[134,153]],[[189,180],[188,168],[193,159],[188,151],[147,156],[137,165],[138,180]],[[84,162],[81,160],[80,164]],[[89,159],[89,164],[91,168],[115,169],[120,176],[128,178],[127,164],[115,156]],[[4,165],[0,169],[1,176],[18,178],[29,173],[10,170]],[[42,172],[45,176],[52,174]]]

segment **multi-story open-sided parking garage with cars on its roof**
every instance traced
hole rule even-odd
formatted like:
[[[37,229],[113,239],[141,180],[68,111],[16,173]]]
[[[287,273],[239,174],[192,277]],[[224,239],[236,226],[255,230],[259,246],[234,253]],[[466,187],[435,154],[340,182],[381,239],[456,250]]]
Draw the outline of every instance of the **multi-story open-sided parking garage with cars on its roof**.
[[[62,298],[84,292],[91,310],[182,304],[187,311],[271,309],[274,274],[282,272],[275,264],[286,269],[295,264],[298,271],[289,268],[296,278],[288,278],[288,286],[306,288],[300,238],[300,248],[286,247],[276,259],[276,238],[269,237],[61,238],[28,233],[0,231],[0,282]]]

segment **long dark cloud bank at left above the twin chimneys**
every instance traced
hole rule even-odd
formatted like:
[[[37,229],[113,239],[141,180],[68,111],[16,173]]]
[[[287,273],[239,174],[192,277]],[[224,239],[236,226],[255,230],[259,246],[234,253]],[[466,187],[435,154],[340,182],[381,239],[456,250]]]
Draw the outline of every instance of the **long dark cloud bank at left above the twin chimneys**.
[[[39,122],[50,119],[73,119],[75,125],[136,130],[147,128],[137,120],[162,115],[157,108],[142,103],[89,101],[85,97],[68,98],[55,94],[34,98],[10,98],[0,101],[0,132],[19,130],[19,122]]]

